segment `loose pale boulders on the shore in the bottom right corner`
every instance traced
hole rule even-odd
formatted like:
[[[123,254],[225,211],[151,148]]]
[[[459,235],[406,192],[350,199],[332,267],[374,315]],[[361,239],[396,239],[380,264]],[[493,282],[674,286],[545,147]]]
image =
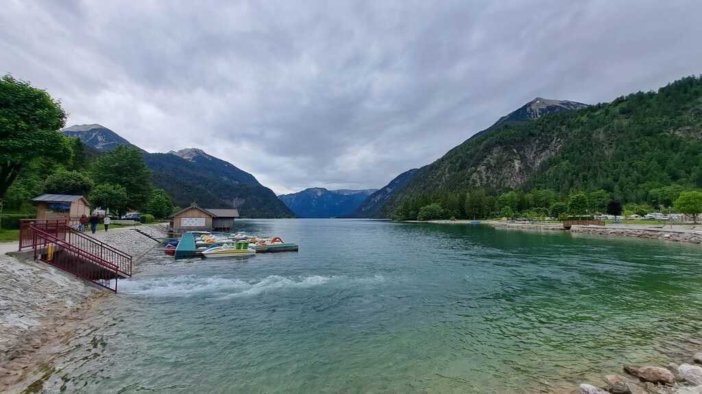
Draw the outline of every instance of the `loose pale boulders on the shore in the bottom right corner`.
[[[670,364],[667,368],[626,365],[626,374],[604,376],[600,386],[582,383],[571,394],[702,394],[702,367],[698,365],[702,363],[702,352],[688,361],[689,364]]]

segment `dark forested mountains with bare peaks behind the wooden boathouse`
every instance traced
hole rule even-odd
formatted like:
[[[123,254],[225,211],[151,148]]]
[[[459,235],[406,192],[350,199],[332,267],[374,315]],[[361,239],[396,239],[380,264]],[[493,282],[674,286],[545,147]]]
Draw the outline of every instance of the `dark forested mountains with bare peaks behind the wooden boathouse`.
[[[79,138],[98,154],[120,144],[135,147],[98,124],[73,125],[62,133]],[[186,207],[196,202],[207,208],[237,208],[242,217],[294,217],[275,193],[260,184],[256,177],[201,149],[180,149],[165,154],[138,149],[152,172],[154,186],[171,195],[175,205]]]

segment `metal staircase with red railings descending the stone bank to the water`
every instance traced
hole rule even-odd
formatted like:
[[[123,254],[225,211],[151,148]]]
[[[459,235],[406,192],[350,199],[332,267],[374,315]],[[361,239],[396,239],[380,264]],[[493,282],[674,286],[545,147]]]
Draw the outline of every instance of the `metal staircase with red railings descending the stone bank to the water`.
[[[66,225],[65,219],[22,219],[20,251],[31,248],[34,259],[117,292],[117,280],[130,278],[129,254]]]

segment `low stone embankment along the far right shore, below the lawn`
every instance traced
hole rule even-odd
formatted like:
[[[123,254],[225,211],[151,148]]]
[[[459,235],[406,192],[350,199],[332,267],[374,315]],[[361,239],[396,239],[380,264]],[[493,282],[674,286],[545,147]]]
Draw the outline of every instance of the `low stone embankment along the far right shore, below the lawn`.
[[[571,233],[588,233],[601,236],[626,236],[670,240],[674,242],[702,243],[702,231],[694,229],[675,229],[670,226],[572,226]]]

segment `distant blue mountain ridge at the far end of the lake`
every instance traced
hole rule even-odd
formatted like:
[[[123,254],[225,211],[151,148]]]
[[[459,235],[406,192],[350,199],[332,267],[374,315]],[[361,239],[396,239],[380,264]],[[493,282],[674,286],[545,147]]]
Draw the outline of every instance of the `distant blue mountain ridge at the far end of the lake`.
[[[297,217],[343,217],[350,215],[375,191],[376,189],[328,190],[323,187],[311,187],[298,193],[282,194],[278,198]]]

